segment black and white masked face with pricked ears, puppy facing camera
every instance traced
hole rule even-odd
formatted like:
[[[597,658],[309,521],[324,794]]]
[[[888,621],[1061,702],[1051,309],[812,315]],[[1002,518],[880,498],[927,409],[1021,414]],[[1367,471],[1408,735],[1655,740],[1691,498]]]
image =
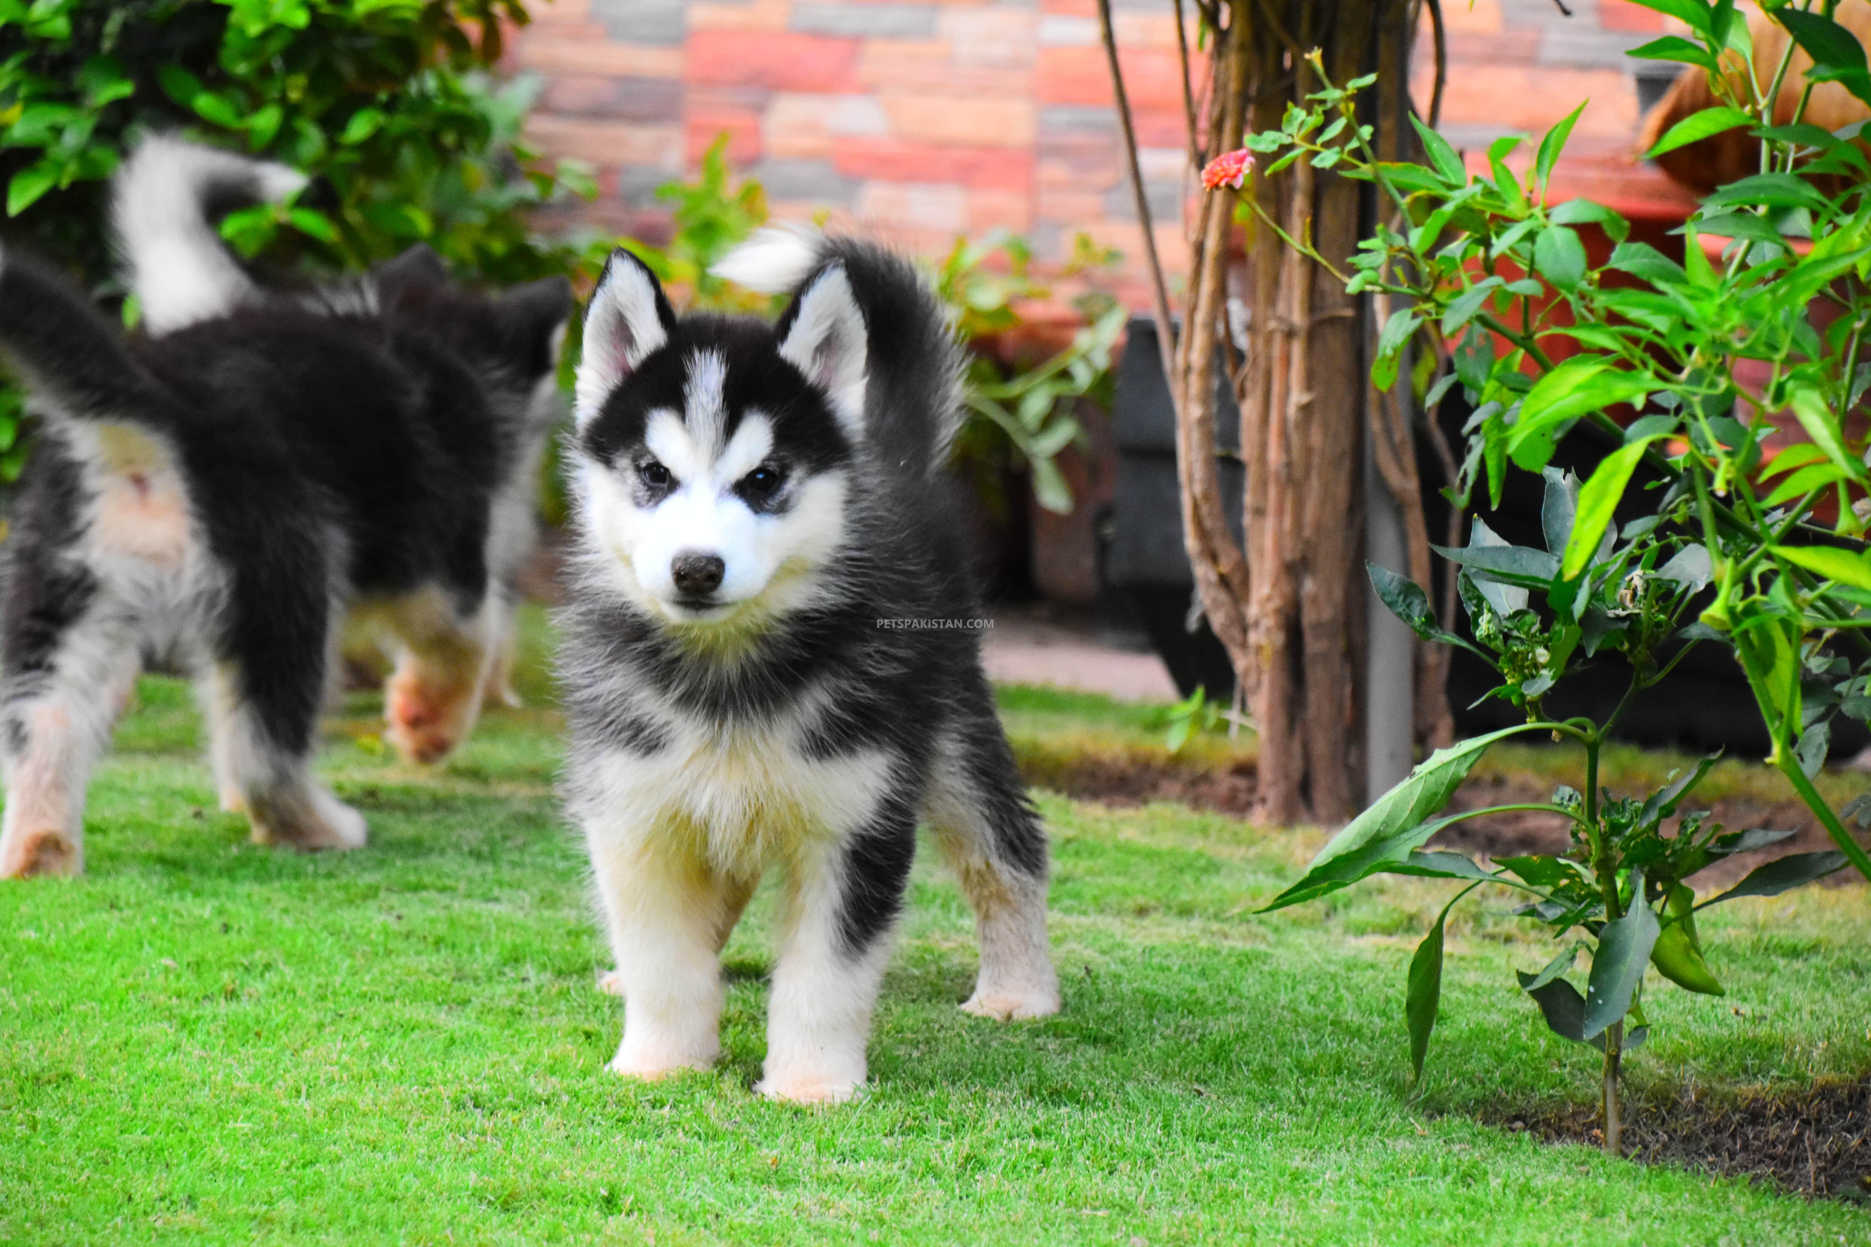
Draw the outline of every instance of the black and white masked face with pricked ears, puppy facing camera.
[[[864,426],[864,320],[827,267],[769,329],[677,320],[634,256],[586,312],[576,454],[593,553],[655,617],[758,624],[827,583]]]

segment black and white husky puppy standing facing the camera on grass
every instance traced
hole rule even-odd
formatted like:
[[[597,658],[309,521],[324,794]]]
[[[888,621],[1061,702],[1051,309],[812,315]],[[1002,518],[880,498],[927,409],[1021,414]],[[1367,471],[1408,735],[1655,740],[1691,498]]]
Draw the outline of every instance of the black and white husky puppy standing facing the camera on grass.
[[[844,239],[767,232],[718,271],[791,307],[778,325],[677,318],[617,251],[586,312],[569,804],[625,998],[610,1068],[715,1060],[720,948],[780,867],[760,1090],[842,1101],[864,1081],[919,823],[977,914],[962,1008],[1059,1010],[1046,836],[967,628],[943,471],[962,361],[941,307],[907,264]]]

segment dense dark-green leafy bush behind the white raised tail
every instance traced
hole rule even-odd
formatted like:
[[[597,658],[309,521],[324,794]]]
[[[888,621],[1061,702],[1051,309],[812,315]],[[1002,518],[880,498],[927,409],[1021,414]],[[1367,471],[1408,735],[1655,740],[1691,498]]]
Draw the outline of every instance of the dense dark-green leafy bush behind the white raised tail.
[[[520,142],[533,80],[496,82],[520,0],[0,0],[7,237],[122,295],[107,185],[138,131],[283,161],[296,202],[223,232],[283,267],[355,269],[412,243],[464,275],[522,280],[574,256],[528,209],[589,194]],[[0,389],[0,479],[19,471],[19,394]]]

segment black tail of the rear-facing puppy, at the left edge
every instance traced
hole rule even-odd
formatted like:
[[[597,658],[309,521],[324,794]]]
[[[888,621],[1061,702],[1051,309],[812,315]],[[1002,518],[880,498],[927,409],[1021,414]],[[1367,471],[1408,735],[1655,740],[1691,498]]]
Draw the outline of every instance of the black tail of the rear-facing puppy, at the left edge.
[[[0,249],[0,357],[49,419],[138,421],[165,402],[122,331],[52,265]]]

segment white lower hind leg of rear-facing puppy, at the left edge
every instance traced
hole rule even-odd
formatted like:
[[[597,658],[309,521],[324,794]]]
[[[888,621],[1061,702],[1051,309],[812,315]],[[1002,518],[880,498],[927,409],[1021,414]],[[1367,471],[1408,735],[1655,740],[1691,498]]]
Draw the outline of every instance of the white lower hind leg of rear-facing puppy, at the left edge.
[[[0,694],[0,877],[77,875],[84,869],[84,789],[137,679],[137,636],[125,621],[94,609],[56,638],[36,643],[13,634],[9,641]]]

